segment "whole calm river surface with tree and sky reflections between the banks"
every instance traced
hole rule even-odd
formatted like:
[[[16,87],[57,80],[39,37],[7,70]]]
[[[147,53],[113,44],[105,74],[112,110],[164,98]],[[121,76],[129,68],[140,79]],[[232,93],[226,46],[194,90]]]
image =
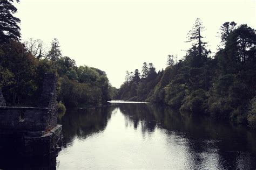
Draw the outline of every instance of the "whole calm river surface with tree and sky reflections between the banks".
[[[68,110],[57,169],[255,169],[256,133],[153,104]]]

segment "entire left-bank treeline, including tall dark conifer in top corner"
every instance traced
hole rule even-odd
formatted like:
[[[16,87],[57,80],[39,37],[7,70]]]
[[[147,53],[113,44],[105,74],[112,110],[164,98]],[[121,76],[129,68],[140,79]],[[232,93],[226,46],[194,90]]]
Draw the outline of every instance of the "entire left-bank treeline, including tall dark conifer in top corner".
[[[111,100],[113,88],[105,72],[76,66],[63,56],[57,39],[46,49],[38,39],[21,42],[20,20],[12,1],[1,1],[0,88],[7,105],[36,106],[42,93],[45,73],[58,77],[57,100],[67,107],[86,107]]]

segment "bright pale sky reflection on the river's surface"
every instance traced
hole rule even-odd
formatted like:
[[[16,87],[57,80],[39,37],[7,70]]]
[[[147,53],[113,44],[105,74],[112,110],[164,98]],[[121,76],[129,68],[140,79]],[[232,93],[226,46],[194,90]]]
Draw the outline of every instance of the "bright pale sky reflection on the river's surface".
[[[191,150],[184,133],[156,126],[145,131],[145,121],[134,128],[119,108],[107,122],[105,130],[86,138],[75,137],[72,145],[57,157],[59,169],[120,168],[221,168],[214,141],[205,141],[204,152]]]

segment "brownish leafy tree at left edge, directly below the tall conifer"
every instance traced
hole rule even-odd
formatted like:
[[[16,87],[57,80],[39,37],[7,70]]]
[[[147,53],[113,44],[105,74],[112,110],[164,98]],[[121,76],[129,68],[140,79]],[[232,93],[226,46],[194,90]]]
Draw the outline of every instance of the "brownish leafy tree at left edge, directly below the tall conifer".
[[[21,42],[10,41],[4,44],[2,54],[2,67],[5,73],[11,76],[12,79],[8,82],[11,86],[3,87],[6,101],[12,104],[19,104],[24,99],[28,102],[29,98],[37,90],[37,82],[35,82],[37,61],[35,58],[26,52],[26,49]],[[6,74],[5,74],[6,75]],[[12,76],[13,75],[13,76]]]

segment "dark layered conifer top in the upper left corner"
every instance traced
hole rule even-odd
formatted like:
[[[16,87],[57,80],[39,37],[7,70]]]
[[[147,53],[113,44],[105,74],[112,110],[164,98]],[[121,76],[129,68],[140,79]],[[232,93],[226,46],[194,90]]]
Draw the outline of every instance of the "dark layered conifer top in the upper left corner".
[[[14,17],[17,8],[12,5],[12,2],[7,0],[0,1],[0,44],[9,42],[10,39],[19,40],[21,37],[18,26],[21,20]]]

